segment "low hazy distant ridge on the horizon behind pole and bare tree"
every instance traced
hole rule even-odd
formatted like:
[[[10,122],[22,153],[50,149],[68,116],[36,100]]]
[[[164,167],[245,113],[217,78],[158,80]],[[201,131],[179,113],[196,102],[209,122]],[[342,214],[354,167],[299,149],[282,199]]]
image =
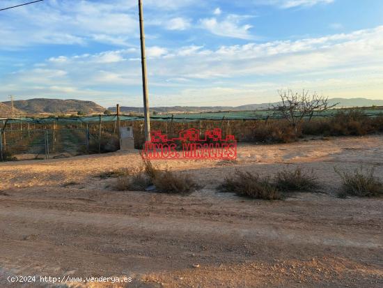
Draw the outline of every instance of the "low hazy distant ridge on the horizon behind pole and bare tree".
[[[371,107],[383,106],[383,100],[371,100],[366,98],[332,98],[329,99],[329,105],[334,105],[339,103],[336,107]],[[269,105],[276,105],[276,103],[262,103],[262,104],[249,104],[242,106],[208,106],[208,107],[182,107],[182,106],[173,106],[173,107],[150,107],[151,112],[157,113],[198,113],[198,112],[218,112],[218,111],[249,111],[249,110],[260,110],[267,109]],[[109,110],[116,112],[116,107],[110,107]],[[130,113],[130,112],[143,112],[142,107],[120,107],[121,112]]]

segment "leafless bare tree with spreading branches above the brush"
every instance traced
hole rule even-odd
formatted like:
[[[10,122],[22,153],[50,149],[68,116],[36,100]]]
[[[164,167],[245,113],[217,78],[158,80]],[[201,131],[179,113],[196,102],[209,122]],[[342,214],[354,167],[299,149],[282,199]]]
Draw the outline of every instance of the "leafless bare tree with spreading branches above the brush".
[[[297,132],[297,127],[305,118],[311,121],[315,112],[325,112],[335,107],[337,104],[329,105],[329,98],[319,96],[318,93],[310,93],[307,90],[302,92],[293,91],[291,89],[279,90],[281,102],[271,105],[274,114],[286,119]]]

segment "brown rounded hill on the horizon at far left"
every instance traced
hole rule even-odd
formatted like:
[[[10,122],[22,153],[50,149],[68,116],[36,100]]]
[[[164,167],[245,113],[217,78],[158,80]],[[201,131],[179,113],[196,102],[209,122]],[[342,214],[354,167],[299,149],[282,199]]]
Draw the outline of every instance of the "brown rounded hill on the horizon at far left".
[[[3,102],[3,105],[10,107],[10,101]],[[86,114],[103,113],[105,108],[92,102],[81,100],[61,99],[30,99],[15,100],[13,105],[16,109],[26,114],[71,114],[79,111]]]

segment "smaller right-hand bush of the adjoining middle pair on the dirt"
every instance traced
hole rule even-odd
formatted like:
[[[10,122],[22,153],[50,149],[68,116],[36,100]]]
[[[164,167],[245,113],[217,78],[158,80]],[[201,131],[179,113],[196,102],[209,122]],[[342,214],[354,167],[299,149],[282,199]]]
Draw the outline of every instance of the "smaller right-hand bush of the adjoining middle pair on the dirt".
[[[318,178],[313,170],[305,172],[301,167],[295,170],[283,170],[275,176],[275,184],[282,191],[311,191],[318,188]]]

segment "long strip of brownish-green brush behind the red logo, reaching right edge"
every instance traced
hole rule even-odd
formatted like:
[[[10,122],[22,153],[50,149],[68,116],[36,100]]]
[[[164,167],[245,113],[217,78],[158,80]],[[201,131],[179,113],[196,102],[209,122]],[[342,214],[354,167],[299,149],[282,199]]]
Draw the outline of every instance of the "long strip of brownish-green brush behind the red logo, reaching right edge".
[[[265,112],[267,113],[267,112]],[[145,143],[142,122],[131,123],[134,128],[136,149]],[[166,123],[154,121],[153,130],[160,130],[166,135],[177,137],[179,132],[189,128],[201,127],[201,133],[212,128],[221,128],[224,134],[234,135],[238,142],[250,143],[291,143],[311,137],[363,136],[383,132],[383,116],[368,116],[364,109],[336,109],[322,116],[307,116],[292,125],[288,120],[203,120],[192,123]]]

